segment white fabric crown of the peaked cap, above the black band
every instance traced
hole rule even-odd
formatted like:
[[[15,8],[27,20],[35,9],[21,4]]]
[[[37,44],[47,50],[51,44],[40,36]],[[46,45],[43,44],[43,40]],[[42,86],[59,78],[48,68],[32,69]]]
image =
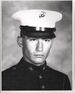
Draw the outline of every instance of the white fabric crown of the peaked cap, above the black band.
[[[19,20],[22,26],[55,28],[56,22],[62,19],[62,14],[50,10],[21,10],[12,15],[12,18]]]

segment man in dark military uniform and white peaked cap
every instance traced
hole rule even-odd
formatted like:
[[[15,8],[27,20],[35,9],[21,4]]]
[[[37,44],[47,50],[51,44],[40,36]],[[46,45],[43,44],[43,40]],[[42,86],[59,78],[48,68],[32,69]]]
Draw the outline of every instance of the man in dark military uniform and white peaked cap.
[[[71,90],[68,77],[46,65],[52,47],[55,24],[62,14],[49,10],[21,10],[13,14],[21,22],[18,45],[23,58],[3,71],[3,90]]]

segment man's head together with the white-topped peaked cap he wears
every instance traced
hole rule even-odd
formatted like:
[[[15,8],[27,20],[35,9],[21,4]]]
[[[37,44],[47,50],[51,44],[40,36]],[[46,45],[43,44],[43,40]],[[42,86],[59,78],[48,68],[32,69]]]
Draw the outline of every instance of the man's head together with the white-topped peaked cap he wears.
[[[22,47],[24,59],[38,66],[43,64],[56,37],[55,23],[62,15],[56,11],[22,10],[13,18],[21,21],[18,44]]]

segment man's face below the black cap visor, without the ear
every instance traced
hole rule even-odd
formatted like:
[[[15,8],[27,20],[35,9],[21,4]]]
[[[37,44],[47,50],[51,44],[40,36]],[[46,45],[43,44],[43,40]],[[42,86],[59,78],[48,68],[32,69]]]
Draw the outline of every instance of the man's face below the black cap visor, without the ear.
[[[25,60],[35,65],[41,65],[49,54],[52,40],[25,36],[22,39],[22,44]]]

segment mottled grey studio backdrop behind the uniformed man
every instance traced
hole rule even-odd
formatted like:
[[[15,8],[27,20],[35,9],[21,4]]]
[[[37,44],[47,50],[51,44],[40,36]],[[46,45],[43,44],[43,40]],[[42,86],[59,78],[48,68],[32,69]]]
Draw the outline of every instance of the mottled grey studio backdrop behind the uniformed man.
[[[18,63],[22,57],[17,45],[18,21],[11,16],[21,9],[47,9],[59,11],[63,19],[56,24],[56,39],[47,58],[52,68],[66,73],[72,83],[72,4],[71,1],[3,1],[2,2],[2,70]]]

